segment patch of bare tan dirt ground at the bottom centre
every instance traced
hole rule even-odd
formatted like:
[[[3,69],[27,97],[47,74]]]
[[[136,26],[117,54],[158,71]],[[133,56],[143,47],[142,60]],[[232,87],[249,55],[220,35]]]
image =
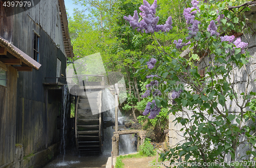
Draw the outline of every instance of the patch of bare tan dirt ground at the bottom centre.
[[[165,166],[156,166],[156,156],[153,157],[143,157],[143,158],[125,158],[122,159],[125,168],[144,168],[144,167],[165,167]],[[161,163],[159,163],[161,164]]]

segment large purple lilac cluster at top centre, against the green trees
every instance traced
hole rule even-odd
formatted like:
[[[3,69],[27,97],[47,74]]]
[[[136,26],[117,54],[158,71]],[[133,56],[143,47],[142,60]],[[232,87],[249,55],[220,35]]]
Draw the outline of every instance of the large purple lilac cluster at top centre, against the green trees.
[[[133,29],[137,28],[137,31],[141,31],[142,33],[154,33],[154,32],[168,32],[173,29],[172,26],[172,17],[168,17],[164,25],[157,25],[159,21],[159,16],[155,16],[156,14],[156,8],[157,8],[157,0],[154,1],[152,6],[146,1],[143,0],[143,4],[139,7],[140,9],[140,16],[142,17],[142,20],[138,22],[139,16],[137,11],[134,11],[134,16],[124,16],[123,18],[127,21],[129,21],[130,26],[133,27]]]

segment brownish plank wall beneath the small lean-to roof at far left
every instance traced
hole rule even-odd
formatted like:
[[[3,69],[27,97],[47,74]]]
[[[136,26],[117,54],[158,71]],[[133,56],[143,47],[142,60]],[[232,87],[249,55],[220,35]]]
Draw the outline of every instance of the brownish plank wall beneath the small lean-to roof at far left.
[[[7,87],[0,86],[0,166],[15,155],[17,70],[8,66]]]

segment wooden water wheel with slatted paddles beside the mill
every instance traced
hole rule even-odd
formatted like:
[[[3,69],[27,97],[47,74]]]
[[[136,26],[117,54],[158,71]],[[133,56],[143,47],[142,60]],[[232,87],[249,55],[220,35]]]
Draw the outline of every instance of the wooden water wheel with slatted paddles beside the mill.
[[[101,153],[101,94],[99,89],[90,89],[77,99],[75,136],[79,154]]]

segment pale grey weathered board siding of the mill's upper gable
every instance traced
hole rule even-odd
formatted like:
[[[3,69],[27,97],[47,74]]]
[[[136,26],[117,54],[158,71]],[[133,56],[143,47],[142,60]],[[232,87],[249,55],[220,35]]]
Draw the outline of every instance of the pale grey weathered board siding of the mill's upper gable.
[[[25,12],[50,38],[60,44],[60,50],[65,54],[60,11],[58,0],[40,0],[33,8]]]

